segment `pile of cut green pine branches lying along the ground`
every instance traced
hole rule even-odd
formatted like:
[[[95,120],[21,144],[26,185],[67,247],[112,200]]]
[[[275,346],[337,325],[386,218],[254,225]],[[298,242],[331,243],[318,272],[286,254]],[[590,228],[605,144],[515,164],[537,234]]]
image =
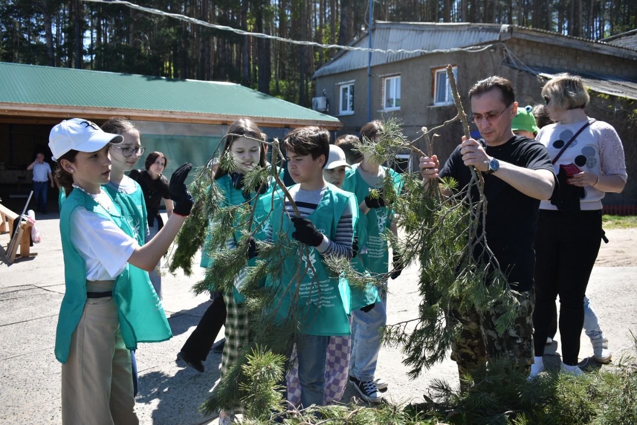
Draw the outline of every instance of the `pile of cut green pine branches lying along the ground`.
[[[637,423],[637,340],[615,368],[605,366],[582,377],[542,373],[527,380],[505,362],[491,362],[476,371],[464,391],[436,380],[424,403],[373,407],[350,403],[286,410],[276,384],[282,381],[281,357],[256,350],[242,367],[251,385],[259,387],[259,401],[244,424],[502,424],[585,425]],[[267,401],[266,401],[267,400]],[[266,401],[266,402],[264,402]],[[269,403],[269,405],[268,405]]]

